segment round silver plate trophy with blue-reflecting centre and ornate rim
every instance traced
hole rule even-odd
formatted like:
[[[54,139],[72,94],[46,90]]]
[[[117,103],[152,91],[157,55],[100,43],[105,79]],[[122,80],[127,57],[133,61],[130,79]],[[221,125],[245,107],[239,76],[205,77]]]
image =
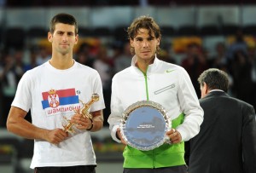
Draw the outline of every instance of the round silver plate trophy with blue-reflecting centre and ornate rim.
[[[166,110],[154,101],[137,101],[125,109],[120,132],[131,147],[148,151],[160,147],[166,140],[171,121]]]

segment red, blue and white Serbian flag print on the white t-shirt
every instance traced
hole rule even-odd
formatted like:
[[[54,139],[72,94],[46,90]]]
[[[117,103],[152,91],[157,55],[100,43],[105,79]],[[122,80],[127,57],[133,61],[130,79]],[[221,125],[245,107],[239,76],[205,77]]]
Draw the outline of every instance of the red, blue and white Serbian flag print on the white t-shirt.
[[[47,92],[43,92],[42,95],[44,109],[79,103],[79,96],[76,95],[75,89],[50,89]]]

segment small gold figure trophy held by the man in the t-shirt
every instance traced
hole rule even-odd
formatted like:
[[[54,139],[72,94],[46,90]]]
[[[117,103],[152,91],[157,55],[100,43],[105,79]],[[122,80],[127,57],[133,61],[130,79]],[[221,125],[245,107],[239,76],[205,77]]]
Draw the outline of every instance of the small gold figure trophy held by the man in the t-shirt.
[[[100,96],[95,93],[91,95],[90,101],[88,101],[87,103],[84,103],[83,101],[79,100],[79,102],[82,103],[83,107],[79,110],[74,110],[74,112],[81,114],[83,118],[92,119],[92,116],[90,112],[88,112],[88,109],[94,102],[99,101],[99,98]],[[69,133],[74,133],[75,130],[73,130],[73,125],[75,125],[75,123],[71,123],[70,120],[67,118],[65,118],[65,120],[67,121],[67,124],[63,125],[64,131]]]

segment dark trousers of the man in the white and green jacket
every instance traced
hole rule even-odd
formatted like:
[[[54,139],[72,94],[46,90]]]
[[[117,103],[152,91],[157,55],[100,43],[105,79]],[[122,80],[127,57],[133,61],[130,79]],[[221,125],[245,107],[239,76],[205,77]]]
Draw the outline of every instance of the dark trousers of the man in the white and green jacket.
[[[186,165],[164,168],[124,168],[123,173],[188,173]]]

